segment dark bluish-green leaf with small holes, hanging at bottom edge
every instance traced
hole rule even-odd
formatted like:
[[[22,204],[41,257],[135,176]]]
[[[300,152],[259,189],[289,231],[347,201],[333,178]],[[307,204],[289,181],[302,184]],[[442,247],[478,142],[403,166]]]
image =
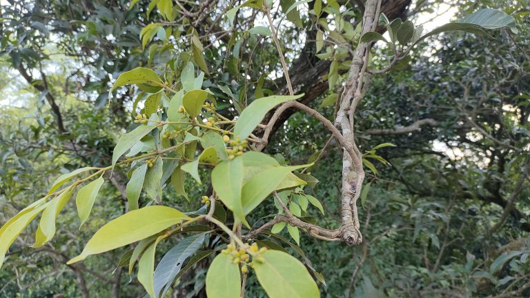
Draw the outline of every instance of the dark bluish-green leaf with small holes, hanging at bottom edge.
[[[204,243],[206,233],[182,239],[177,246],[171,248],[160,260],[155,270],[155,297],[165,297],[173,280],[177,277],[184,261],[193,255]],[[160,291],[164,290],[161,295]]]

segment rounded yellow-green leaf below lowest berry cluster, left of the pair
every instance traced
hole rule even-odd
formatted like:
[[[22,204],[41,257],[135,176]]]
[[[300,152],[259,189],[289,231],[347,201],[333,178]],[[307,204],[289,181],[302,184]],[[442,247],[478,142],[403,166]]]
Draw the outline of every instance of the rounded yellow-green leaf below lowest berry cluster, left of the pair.
[[[208,298],[239,298],[240,294],[239,266],[230,260],[230,255],[217,255],[206,273],[206,296]]]

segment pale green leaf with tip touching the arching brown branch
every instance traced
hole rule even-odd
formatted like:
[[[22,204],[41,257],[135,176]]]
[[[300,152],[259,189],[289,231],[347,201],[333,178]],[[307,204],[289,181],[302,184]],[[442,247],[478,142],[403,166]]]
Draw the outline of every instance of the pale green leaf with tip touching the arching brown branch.
[[[304,94],[293,96],[274,95],[256,99],[243,110],[239,119],[237,119],[234,128],[234,137],[239,137],[242,140],[246,139],[263,120],[269,110],[279,105],[279,103],[299,99],[303,96]]]

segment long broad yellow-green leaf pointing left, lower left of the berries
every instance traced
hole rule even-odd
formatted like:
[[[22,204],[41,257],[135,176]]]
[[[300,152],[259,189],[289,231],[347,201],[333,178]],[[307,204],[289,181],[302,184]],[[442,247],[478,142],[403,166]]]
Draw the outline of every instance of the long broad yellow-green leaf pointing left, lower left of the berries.
[[[81,255],[71,259],[67,264],[82,261],[89,255],[132,244],[174,224],[179,224],[185,219],[190,218],[179,210],[166,206],[147,206],[130,211],[101,227],[90,238]]]

